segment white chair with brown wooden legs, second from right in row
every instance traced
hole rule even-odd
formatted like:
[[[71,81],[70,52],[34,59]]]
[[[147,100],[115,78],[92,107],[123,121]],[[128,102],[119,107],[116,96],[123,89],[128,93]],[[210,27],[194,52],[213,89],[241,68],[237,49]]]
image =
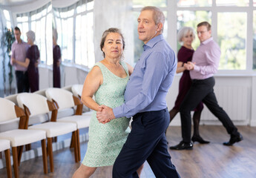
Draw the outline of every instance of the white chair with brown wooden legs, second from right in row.
[[[73,96],[73,93],[68,90],[64,90],[61,88],[48,88],[46,91],[47,99],[56,103],[59,106],[59,110],[65,108],[73,108],[76,106],[76,114],[74,116],[66,116],[60,119],[56,119],[57,122],[73,122],[76,124],[78,134],[77,140],[79,142],[79,129],[80,128],[88,128],[91,120],[91,116],[82,116],[82,107],[83,104],[76,96]],[[71,140],[70,148],[73,147],[73,138]],[[80,142],[79,142],[80,143]],[[80,144],[78,145],[78,153],[79,153],[79,161],[81,160],[80,153]]]

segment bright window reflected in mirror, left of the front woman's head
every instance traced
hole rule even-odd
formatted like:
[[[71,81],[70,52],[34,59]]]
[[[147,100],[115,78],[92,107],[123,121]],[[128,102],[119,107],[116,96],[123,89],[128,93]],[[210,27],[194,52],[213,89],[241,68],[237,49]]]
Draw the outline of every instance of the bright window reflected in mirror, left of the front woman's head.
[[[66,63],[92,67],[95,63],[93,46],[93,1],[80,0],[69,7],[53,7],[62,60]]]

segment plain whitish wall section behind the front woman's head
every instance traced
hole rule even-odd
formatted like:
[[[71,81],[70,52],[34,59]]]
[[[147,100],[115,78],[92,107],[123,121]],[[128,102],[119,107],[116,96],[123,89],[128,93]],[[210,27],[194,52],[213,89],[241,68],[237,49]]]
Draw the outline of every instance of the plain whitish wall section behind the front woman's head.
[[[110,27],[118,27],[125,38],[125,62],[134,62],[134,19],[132,0],[94,1],[94,49],[95,62],[103,59],[99,44],[102,33]]]

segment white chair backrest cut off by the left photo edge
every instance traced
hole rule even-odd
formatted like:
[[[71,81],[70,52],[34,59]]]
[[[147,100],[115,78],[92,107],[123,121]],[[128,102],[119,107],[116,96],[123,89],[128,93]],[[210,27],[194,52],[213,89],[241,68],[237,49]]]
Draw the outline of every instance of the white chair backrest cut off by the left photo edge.
[[[0,98],[0,123],[8,121],[16,121],[16,108],[15,103],[8,99]]]

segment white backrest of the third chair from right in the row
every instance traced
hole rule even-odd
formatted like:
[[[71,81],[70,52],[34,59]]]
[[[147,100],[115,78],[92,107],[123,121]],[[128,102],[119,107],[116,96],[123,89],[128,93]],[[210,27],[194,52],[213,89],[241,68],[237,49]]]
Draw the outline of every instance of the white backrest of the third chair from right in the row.
[[[20,108],[24,108],[24,105],[29,108],[30,116],[50,112],[47,98],[36,93],[19,93],[17,102]]]

